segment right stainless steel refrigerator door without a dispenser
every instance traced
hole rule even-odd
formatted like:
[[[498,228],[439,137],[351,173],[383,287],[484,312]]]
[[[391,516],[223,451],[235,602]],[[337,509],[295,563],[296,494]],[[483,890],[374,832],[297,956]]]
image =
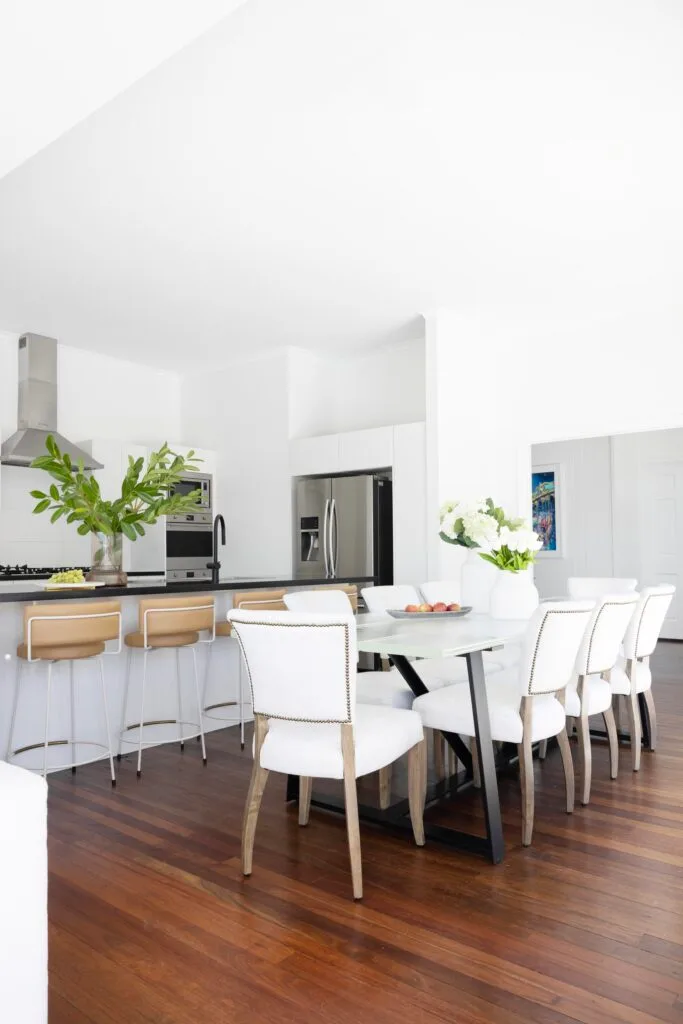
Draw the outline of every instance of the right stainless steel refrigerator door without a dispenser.
[[[330,508],[330,575],[374,573],[373,476],[337,476]]]

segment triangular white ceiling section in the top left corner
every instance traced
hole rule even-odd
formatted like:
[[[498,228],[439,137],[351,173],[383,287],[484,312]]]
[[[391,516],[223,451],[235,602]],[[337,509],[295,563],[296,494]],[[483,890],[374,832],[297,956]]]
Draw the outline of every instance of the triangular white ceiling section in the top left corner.
[[[0,177],[244,0],[2,0]]]

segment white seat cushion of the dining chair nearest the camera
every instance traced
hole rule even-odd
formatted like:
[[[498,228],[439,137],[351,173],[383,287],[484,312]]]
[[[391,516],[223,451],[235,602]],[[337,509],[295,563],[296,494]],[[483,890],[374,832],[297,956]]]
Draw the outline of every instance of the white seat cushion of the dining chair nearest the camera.
[[[414,711],[356,705],[353,737],[358,778],[392,764],[420,742],[422,722]],[[261,767],[291,775],[343,778],[341,726],[270,719]]]

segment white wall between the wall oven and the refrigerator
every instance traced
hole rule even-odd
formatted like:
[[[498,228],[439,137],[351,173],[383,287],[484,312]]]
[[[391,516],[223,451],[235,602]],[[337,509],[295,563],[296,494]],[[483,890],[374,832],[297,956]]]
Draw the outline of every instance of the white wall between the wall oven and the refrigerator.
[[[224,575],[290,577],[288,353],[182,381],[182,437],[217,453]]]

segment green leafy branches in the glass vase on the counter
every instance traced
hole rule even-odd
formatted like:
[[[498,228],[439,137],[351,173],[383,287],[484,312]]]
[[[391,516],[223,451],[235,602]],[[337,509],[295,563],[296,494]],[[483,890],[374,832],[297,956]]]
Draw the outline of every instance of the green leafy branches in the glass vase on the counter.
[[[129,541],[144,537],[145,526],[152,526],[163,515],[184,515],[197,511],[199,490],[188,495],[171,495],[171,488],[187,472],[197,472],[199,463],[194,452],[186,457],[176,455],[166,442],[147,459],[128,457],[128,469],[121,483],[121,497],[105,501],[94,476],[86,473],[83,461],[74,465],[68,453],[62,453],[52,437],[45,441],[46,455],[34,459],[32,466],[43,469],[55,481],[47,492],[32,490],[37,505],[34,515],[50,513],[50,521],[66,516],[67,522],[78,523],[78,532],[123,534]]]

